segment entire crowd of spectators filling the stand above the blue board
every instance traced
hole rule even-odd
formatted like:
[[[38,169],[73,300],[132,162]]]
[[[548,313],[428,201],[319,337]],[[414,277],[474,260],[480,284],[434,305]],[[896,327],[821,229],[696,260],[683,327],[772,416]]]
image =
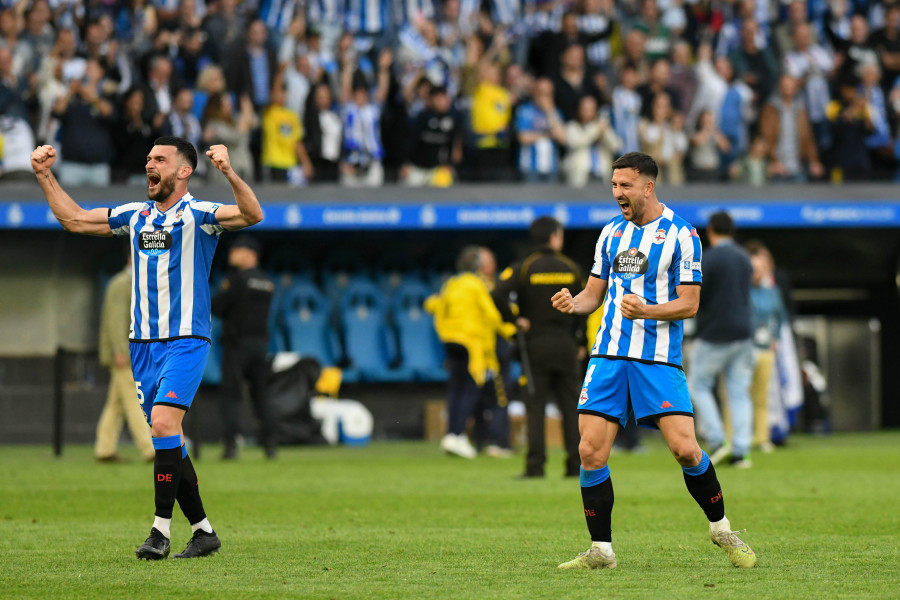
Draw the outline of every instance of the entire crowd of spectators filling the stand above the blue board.
[[[881,0],[0,0],[0,176],[174,134],[288,185],[891,180],[898,76]]]

